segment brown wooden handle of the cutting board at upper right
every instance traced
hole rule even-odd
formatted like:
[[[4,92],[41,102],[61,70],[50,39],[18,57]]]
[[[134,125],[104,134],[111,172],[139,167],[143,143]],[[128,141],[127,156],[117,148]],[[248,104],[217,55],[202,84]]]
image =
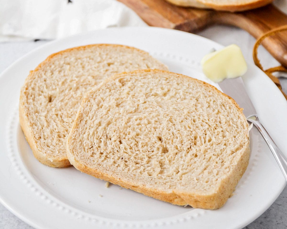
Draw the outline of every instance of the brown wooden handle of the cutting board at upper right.
[[[271,29],[287,25],[287,16],[269,4],[241,13],[217,12],[212,22],[240,27],[257,39]],[[276,60],[287,66],[287,32],[265,38],[262,45]]]

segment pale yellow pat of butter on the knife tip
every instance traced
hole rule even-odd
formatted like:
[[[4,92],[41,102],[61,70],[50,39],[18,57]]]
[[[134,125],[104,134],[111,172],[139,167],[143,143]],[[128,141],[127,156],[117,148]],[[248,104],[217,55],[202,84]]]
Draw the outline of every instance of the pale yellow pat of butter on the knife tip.
[[[216,83],[225,78],[243,76],[247,72],[243,54],[234,44],[205,55],[201,60],[201,68],[205,76]]]

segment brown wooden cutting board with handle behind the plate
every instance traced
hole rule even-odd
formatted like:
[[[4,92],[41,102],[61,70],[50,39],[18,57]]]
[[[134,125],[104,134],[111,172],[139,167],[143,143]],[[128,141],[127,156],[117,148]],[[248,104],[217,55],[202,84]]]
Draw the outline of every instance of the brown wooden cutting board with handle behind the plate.
[[[271,29],[287,25],[287,16],[272,4],[240,13],[231,13],[178,7],[165,0],[119,1],[133,9],[151,26],[187,32],[199,31],[217,23],[240,27],[258,38]],[[267,37],[262,44],[276,60],[287,66],[287,32]]]

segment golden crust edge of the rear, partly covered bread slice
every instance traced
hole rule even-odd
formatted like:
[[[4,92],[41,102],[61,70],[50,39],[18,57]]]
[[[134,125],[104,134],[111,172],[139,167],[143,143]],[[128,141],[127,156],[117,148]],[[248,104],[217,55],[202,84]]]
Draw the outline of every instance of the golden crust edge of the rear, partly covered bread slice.
[[[60,52],[56,52],[54,54],[51,54],[48,56],[43,62],[41,62],[34,70],[30,71],[29,75],[27,76],[24,85],[21,88],[20,91],[20,98],[19,98],[19,121],[20,121],[20,126],[22,128],[22,131],[24,132],[24,135],[26,137],[26,140],[28,144],[30,145],[32,152],[34,154],[34,157],[38,161],[40,161],[44,165],[48,165],[50,167],[69,167],[71,166],[69,160],[67,159],[66,156],[63,157],[51,157],[51,155],[46,155],[45,152],[42,152],[40,149],[37,148],[36,146],[36,139],[34,134],[32,133],[32,123],[31,121],[28,120],[28,115],[27,115],[27,110],[25,109],[25,104],[27,103],[26,98],[25,98],[25,91],[28,89],[29,85],[28,82],[31,78],[35,77],[34,73],[41,70],[41,68],[49,61],[51,61],[55,56],[62,55],[64,53],[69,53],[74,50],[85,50],[88,48],[92,47],[123,47],[127,49],[132,49],[132,50],[137,50],[137,52],[142,53],[144,55],[149,55],[148,52],[145,52],[143,50],[130,47],[130,46],[125,46],[125,45],[118,45],[118,44],[90,44],[90,45],[85,45],[85,46],[78,46],[78,47],[73,47],[69,48],[66,50],[62,50]]]

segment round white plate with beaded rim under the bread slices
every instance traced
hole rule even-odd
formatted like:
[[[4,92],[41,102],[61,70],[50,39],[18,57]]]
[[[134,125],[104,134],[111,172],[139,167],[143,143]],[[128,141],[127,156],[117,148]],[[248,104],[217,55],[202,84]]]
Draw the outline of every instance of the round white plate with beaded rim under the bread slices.
[[[207,80],[199,61],[219,44],[203,37],[161,28],[113,28],[76,35],[42,46],[0,77],[1,203],[35,228],[242,228],[261,215],[284,188],[284,177],[258,131],[251,130],[251,156],[235,194],[219,210],[174,206],[105,182],[73,167],[39,163],[18,121],[20,86],[29,70],[49,54],[73,46],[116,43],[150,52],[171,71]],[[244,81],[262,123],[287,152],[287,103],[253,63]],[[272,95],[272,96],[270,96]],[[102,195],[102,196],[100,196]]]

